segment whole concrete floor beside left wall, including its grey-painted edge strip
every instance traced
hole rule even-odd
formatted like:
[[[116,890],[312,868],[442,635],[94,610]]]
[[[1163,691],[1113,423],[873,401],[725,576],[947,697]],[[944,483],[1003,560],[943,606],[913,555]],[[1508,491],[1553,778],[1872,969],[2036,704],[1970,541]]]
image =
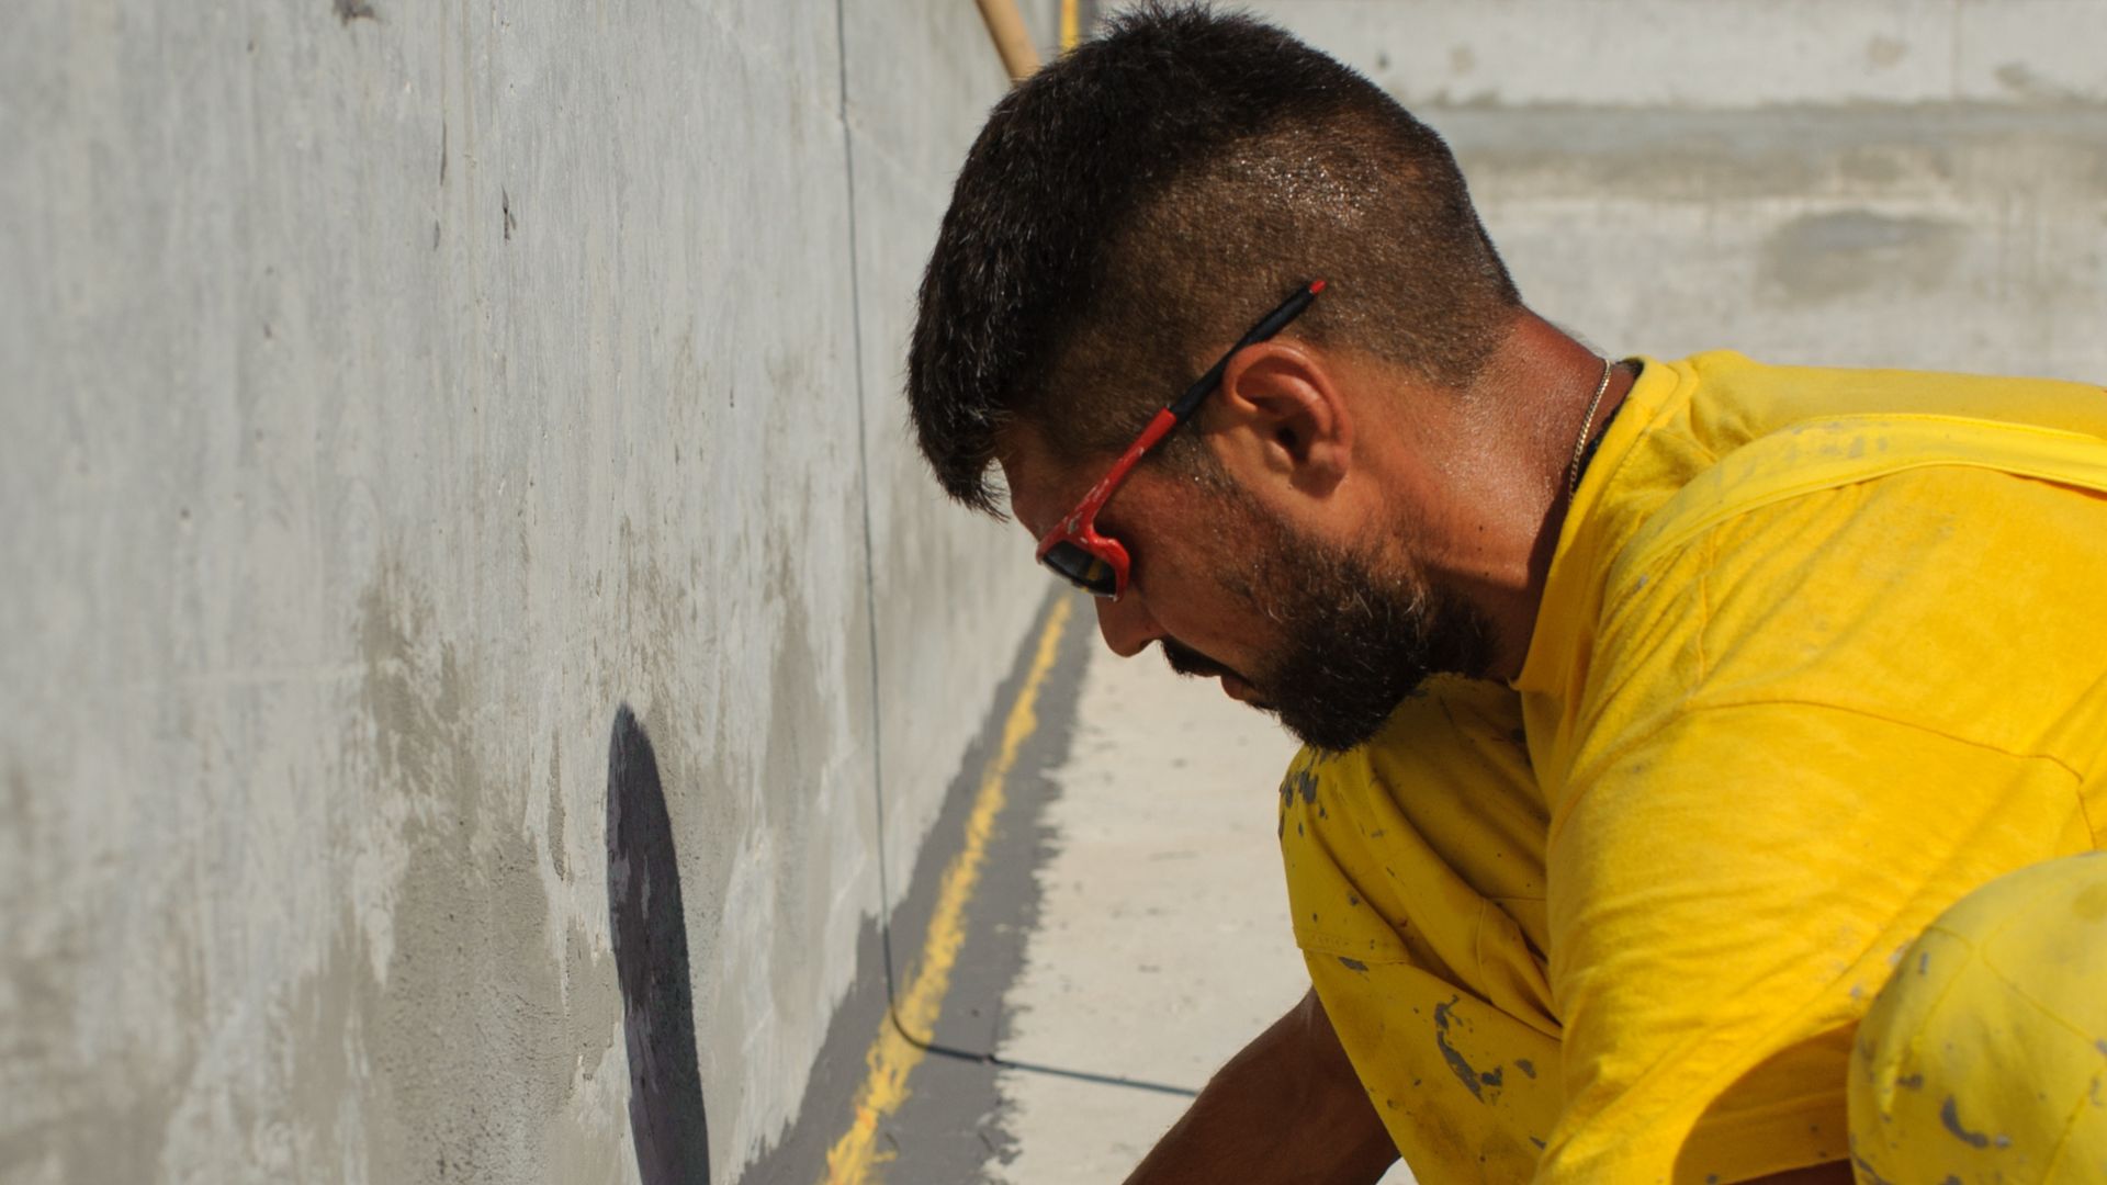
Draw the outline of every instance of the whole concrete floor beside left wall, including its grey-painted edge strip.
[[[904,1105],[877,1118],[877,1164],[853,1181],[1117,1185],[1216,1067],[1308,989],[1275,839],[1294,742],[1155,654],[1112,658],[1085,601],[1058,652],[933,1046]],[[891,915],[902,978],[925,957],[929,900],[1018,687],[1011,677],[997,696]],[[853,1122],[885,1025],[870,955],[870,991],[836,1018],[803,1118],[746,1185],[836,1179],[824,1151]],[[1384,1179],[1410,1181],[1401,1166]]]

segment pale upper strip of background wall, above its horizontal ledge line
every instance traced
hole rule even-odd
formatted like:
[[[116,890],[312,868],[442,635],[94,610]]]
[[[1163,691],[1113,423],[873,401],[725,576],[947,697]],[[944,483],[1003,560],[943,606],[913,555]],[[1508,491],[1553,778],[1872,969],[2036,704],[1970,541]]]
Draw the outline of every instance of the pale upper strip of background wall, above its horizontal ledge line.
[[[2107,99],[2096,0],[1258,0],[1407,105]]]

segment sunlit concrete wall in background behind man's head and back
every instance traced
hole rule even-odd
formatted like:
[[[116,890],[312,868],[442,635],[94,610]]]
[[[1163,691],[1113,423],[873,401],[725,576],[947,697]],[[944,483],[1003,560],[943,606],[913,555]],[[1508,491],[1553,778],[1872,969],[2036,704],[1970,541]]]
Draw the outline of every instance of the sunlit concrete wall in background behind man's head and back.
[[[2107,4],[1262,0],[1603,350],[2107,380]]]

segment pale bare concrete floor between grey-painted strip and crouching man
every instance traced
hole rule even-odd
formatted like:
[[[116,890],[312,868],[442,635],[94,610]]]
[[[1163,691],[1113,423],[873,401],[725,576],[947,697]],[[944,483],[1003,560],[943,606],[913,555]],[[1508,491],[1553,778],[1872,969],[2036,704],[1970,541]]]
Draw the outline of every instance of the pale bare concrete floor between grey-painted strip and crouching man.
[[[1155,652],[1121,662],[1096,637],[1089,649],[999,1052],[1199,1088],[1308,989],[1275,839],[1296,746]],[[999,1071],[997,1092],[1013,1160],[986,1179],[1009,1185],[1121,1181],[1188,1103],[1020,1069]]]

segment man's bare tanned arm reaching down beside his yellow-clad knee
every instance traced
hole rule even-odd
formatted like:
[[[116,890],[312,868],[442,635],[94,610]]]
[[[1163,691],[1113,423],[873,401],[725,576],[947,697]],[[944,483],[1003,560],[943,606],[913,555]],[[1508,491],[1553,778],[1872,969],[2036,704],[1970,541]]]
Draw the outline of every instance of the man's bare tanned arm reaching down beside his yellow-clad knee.
[[[1367,1185],[1395,1160],[1311,991],[1216,1071],[1127,1185]]]

